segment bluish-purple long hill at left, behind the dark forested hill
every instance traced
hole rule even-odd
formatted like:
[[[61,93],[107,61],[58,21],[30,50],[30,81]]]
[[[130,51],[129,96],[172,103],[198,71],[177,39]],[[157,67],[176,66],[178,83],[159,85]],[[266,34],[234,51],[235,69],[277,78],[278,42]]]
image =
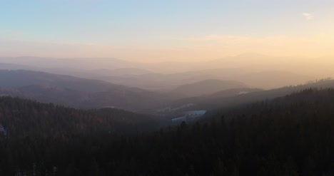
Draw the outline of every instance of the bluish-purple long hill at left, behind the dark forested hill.
[[[106,81],[76,78],[36,71],[0,71],[0,88],[11,95],[59,103],[74,108],[113,106],[127,110],[152,108],[165,96],[140,88]]]

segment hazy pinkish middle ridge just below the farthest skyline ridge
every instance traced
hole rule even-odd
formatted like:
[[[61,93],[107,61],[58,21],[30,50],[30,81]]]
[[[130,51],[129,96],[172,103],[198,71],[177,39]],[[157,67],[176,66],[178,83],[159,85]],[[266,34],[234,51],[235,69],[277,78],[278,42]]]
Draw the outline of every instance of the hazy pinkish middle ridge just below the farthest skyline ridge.
[[[303,76],[289,71],[244,71],[241,68],[220,68],[213,70],[190,71],[184,73],[146,73],[132,76],[104,76],[97,79],[126,86],[135,86],[148,90],[173,90],[184,84],[192,84],[209,79],[233,80],[256,88],[279,88],[297,85],[313,80],[312,76]]]

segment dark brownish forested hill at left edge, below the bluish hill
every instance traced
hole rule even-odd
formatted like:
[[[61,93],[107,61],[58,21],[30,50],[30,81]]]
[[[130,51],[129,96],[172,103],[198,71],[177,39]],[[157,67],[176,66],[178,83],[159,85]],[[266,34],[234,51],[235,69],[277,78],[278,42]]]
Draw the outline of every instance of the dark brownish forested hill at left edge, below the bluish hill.
[[[32,100],[0,97],[0,125],[6,135],[14,138],[27,135],[133,133],[152,130],[156,122],[146,115],[125,110],[76,110]]]

